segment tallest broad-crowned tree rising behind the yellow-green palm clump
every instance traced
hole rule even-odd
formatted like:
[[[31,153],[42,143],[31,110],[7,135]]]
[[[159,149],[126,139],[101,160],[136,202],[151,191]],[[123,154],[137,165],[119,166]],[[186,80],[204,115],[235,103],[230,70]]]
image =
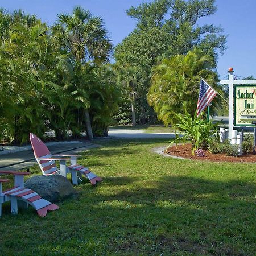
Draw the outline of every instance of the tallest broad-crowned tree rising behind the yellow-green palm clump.
[[[214,0],[155,0],[127,10],[127,15],[137,20],[137,27],[118,44],[114,56],[117,61],[124,59],[143,67],[137,101],[145,102],[152,67],[166,57],[200,48],[216,63],[218,54],[225,51],[226,36],[213,24],[199,25],[200,19],[215,12]]]

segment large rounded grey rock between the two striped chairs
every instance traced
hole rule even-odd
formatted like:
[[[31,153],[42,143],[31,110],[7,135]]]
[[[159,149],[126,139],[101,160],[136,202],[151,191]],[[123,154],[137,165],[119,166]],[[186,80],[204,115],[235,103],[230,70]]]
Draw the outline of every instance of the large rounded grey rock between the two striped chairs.
[[[24,186],[34,190],[50,202],[62,201],[67,197],[77,195],[71,182],[61,175],[36,175],[28,179]]]

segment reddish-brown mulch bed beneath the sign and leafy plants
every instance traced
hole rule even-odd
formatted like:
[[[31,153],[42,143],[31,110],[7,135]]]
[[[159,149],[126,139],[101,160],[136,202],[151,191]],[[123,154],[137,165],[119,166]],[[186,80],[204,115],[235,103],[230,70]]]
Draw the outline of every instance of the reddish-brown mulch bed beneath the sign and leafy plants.
[[[192,160],[208,160],[213,162],[238,162],[238,163],[256,163],[256,155],[251,152],[248,155],[227,156],[226,154],[212,154],[205,151],[205,156],[200,157],[191,155],[191,144],[177,145],[168,148],[168,155],[180,156]]]

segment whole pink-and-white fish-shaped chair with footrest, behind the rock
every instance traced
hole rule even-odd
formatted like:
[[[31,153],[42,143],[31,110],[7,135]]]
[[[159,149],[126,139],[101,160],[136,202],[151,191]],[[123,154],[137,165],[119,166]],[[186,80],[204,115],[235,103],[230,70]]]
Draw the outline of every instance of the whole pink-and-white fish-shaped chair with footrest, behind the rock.
[[[73,185],[78,185],[82,182],[82,175],[85,175],[93,185],[97,181],[102,181],[101,177],[90,172],[87,167],[77,164],[77,157],[80,155],[52,155],[46,144],[32,133],[30,133],[30,142],[34,150],[36,162],[38,162],[43,175],[60,174],[67,177],[67,174],[70,173]],[[60,161],[60,169],[56,167],[55,161]],[[67,166],[68,161],[71,162],[70,166]]]

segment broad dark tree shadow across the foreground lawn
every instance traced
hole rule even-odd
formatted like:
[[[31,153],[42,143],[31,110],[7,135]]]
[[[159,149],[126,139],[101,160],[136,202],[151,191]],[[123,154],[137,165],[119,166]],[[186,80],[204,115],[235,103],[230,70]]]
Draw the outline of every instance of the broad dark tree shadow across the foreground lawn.
[[[143,187],[137,181],[109,177],[86,185],[78,201],[43,219],[31,210],[5,216],[2,228],[15,239],[2,230],[3,253],[26,244],[24,254],[38,255],[253,255],[254,184],[184,176],[145,180]]]

